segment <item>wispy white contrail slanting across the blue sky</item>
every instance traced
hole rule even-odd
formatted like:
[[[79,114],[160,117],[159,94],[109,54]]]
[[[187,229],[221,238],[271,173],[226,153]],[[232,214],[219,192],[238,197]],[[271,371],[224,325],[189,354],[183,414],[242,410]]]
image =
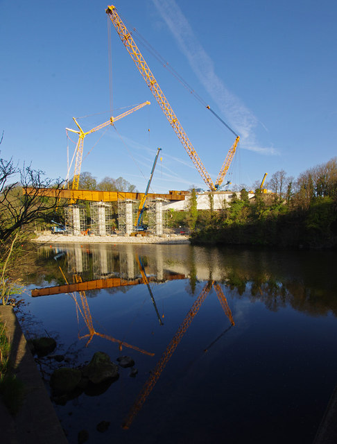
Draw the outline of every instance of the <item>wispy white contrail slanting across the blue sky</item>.
[[[248,108],[232,94],[214,71],[214,63],[198,42],[196,35],[184,17],[175,0],[152,0],[159,14],[166,22],[178,42],[182,52],[200,83],[218,105],[230,126],[241,136],[241,146],[251,151],[265,154],[277,154],[272,147],[261,147],[257,143],[254,128],[259,121]]]

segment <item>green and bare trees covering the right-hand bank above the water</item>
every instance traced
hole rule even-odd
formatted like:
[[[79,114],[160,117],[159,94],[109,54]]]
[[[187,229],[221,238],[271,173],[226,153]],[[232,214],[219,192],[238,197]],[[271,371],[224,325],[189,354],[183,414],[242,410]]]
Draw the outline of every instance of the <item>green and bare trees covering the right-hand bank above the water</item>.
[[[221,211],[190,209],[185,222],[195,244],[251,244],[263,246],[336,248],[337,157],[304,171],[295,180],[276,171],[254,198],[241,189]],[[181,216],[180,216],[181,218]],[[192,223],[191,223],[192,221]],[[181,223],[181,221],[180,221]]]

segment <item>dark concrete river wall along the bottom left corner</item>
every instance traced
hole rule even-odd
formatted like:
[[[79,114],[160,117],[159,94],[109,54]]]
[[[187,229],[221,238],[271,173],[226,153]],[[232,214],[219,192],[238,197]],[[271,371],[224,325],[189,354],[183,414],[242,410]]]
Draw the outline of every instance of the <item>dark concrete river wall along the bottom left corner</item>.
[[[10,342],[10,361],[24,384],[24,400],[13,417],[0,398],[1,442],[67,444],[60,420],[11,306],[0,305],[0,319]]]

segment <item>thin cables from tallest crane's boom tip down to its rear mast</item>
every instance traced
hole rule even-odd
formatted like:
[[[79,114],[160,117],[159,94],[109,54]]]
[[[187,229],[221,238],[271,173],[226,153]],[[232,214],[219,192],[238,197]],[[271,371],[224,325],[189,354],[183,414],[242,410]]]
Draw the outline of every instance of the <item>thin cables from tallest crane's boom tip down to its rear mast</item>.
[[[120,15],[120,14],[119,14]],[[123,19],[123,22],[126,22],[128,24],[128,20],[125,19],[123,16],[120,15],[120,17]],[[129,24],[128,24],[129,26]],[[173,77],[175,77],[191,94],[193,94],[193,96],[203,105],[205,106],[205,108],[207,108],[207,110],[211,111],[212,114],[214,114],[214,116],[221,121],[221,123],[223,123],[223,125],[225,125],[225,127],[227,129],[229,129],[235,137],[239,137],[238,134],[235,133],[235,131],[223,120],[221,119],[220,116],[218,116],[218,114],[216,114],[216,112],[214,110],[211,109],[211,107],[209,105],[207,105],[207,102],[202,99],[202,97],[191,87],[191,85],[189,85],[189,83],[187,83],[186,80],[184,80],[184,78],[182,76],[180,76],[180,74],[178,73],[178,71],[175,71],[175,69],[173,67],[171,67],[171,65],[160,55],[160,53],[141,35],[141,33],[139,33],[139,31],[137,31],[136,28],[132,27],[130,25],[130,27],[132,28],[132,30],[134,31],[134,33],[130,32],[130,34],[132,35],[132,37],[134,38],[134,40],[140,44],[141,46],[143,46],[150,54],[152,54],[152,56],[166,69],[168,69],[168,71],[173,75]],[[129,28],[129,27],[128,27]],[[129,28],[130,29],[130,28]]]

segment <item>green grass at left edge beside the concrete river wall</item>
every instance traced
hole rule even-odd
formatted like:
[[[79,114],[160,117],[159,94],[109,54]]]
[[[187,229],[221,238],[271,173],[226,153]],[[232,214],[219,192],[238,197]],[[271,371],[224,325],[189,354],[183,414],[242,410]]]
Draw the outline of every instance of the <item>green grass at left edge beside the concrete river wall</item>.
[[[24,384],[12,374],[10,368],[10,343],[5,325],[0,322],[0,395],[8,411],[15,415],[24,399]]]

